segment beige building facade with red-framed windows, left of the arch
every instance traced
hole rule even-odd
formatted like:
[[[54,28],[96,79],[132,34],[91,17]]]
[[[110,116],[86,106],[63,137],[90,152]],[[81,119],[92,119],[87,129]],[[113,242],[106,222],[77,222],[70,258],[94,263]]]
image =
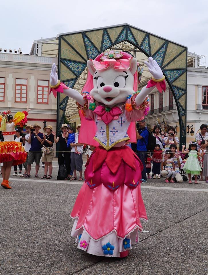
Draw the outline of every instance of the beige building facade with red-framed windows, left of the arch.
[[[51,125],[56,131],[57,99],[49,95],[53,63],[57,58],[0,53],[0,110],[14,114],[28,106],[28,124]]]

